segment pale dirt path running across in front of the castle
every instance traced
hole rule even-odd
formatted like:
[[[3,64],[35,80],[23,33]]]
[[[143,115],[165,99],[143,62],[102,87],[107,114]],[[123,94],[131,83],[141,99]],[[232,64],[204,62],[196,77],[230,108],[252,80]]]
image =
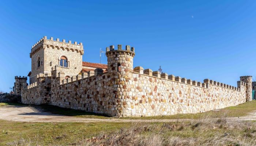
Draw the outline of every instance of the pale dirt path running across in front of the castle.
[[[77,118],[73,116],[63,116],[45,112],[40,107],[33,106],[2,106],[0,107],[0,119],[17,122],[176,122],[177,119],[155,119],[155,120],[129,120],[129,119],[94,119],[94,118]],[[256,120],[256,111],[240,118],[229,118],[233,120]],[[180,121],[193,119],[180,119]],[[194,119],[196,120],[196,119]],[[210,119],[214,120],[214,119]]]

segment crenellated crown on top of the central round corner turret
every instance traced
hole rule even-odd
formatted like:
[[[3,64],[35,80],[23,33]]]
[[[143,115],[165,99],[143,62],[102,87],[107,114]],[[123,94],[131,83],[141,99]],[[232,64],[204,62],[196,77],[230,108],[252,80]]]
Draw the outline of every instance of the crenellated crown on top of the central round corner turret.
[[[135,55],[135,48],[131,47],[130,45],[126,45],[125,50],[122,50],[122,45],[117,45],[117,50],[114,49],[114,45],[106,47],[106,55],[107,56],[109,56],[109,54],[111,54],[113,52],[131,53],[134,56]]]

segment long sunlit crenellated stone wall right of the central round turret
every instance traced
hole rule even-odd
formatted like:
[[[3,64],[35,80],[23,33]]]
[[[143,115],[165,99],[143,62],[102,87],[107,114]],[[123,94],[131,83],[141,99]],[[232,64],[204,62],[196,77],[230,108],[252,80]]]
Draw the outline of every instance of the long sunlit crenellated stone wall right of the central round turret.
[[[238,88],[208,79],[201,83],[142,67],[135,67],[130,81],[121,93],[125,96],[119,103],[121,116],[191,114],[246,101],[242,81]]]

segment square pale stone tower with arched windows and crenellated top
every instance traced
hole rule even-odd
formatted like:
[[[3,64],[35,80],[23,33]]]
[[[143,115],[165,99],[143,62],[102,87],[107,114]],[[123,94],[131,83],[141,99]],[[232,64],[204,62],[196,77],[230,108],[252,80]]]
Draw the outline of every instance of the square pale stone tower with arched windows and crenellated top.
[[[65,39],[60,42],[58,38],[54,41],[52,37],[47,39],[45,36],[33,45],[31,49],[30,84],[36,81],[39,73],[50,75],[52,67],[55,65],[60,65],[65,76],[76,76],[82,70],[83,54],[82,43],[65,42]]]

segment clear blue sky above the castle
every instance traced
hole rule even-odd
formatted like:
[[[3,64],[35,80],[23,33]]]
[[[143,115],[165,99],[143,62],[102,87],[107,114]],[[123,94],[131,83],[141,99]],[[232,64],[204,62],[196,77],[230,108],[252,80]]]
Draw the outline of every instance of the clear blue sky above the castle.
[[[83,61],[131,45],[134,67],[237,86],[256,75],[255,8],[255,0],[0,1],[0,90],[27,76],[31,46],[43,36],[83,42]]]

